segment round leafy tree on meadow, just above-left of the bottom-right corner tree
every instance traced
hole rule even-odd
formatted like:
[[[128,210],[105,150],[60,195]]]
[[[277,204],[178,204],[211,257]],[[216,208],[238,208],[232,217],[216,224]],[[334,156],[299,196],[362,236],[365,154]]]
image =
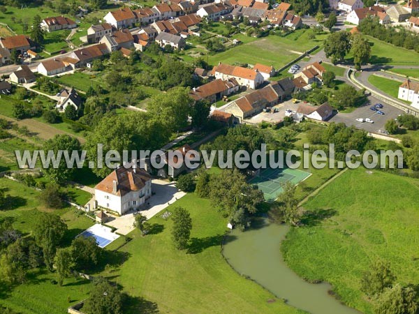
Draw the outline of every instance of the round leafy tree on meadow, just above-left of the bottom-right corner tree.
[[[390,263],[376,260],[362,276],[361,290],[369,296],[376,295],[391,287],[394,281]]]

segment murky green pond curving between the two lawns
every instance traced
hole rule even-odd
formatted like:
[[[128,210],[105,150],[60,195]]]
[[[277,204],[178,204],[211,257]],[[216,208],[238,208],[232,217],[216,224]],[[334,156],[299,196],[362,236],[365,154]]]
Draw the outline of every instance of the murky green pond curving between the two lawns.
[[[249,276],[295,308],[313,314],[359,314],[330,296],[328,283],[307,283],[288,268],[279,249],[288,230],[286,225],[260,219],[245,232],[233,230],[226,237],[223,255],[239,274]]]

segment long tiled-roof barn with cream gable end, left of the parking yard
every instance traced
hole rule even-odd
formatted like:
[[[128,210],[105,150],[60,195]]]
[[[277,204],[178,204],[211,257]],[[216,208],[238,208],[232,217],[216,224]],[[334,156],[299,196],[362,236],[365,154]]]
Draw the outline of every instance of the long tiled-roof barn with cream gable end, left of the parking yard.
[[[246,96],[240,97],[228,104],[225,112],[234,114],[235,117],[242,121],[262,112],[266,107],[272,107],[279,102],[279,96],[271,85],[253,91]]]

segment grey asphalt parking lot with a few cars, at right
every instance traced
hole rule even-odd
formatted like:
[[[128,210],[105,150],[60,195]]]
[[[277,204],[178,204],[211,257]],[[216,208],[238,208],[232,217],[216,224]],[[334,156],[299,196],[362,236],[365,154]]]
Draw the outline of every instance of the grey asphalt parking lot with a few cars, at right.
[[[343,122],[344,124],[346,124],[346,126],[355,126],[356,128],[362,128],[364,130],[367,130],[368,132],[378,133],[378,130],[384,129],[384,125],[386,121],[390,119],[395,119],[397,118],[399,114],[404,113],[403,110],[399,110],[396,107],[392,107],[383,102],[380,102],[374,97],[370,96],[369,100],[370,100],[369,104],[362,106],[360,108],[357,108],[351,113],[339,112],[338,114],[335,114],[335,116],[332,117],[329,121],[336,122],[336,123]],[[384,105],[383,109],[381,109],[381,111],[384,112],[383,116],[369,109],[376,103],[382,103]],[[374,124],[370,124],[368,122],[358,122],[356,121],[356,119],[358,118],[372,119],[372,121],[374,121]]]

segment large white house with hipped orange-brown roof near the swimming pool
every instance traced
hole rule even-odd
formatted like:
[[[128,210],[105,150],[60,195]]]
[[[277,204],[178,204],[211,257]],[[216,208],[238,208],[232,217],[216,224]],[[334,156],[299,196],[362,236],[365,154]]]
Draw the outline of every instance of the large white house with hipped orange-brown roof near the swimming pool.
[[[95,186],[94,196],[98,207],[123,215],[144,207],[152,196],[152,178],[130,163],[115,169]]]

